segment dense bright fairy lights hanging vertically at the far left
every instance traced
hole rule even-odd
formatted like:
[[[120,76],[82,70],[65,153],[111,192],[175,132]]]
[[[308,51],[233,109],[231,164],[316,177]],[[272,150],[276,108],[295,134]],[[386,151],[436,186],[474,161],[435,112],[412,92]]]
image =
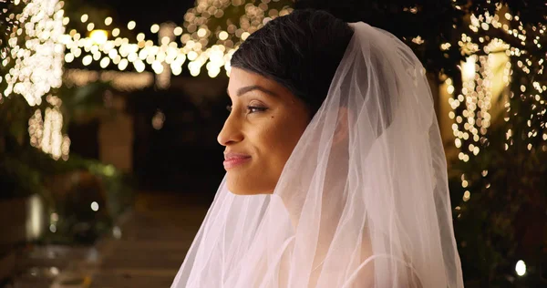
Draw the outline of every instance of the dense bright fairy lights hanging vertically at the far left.
[[[28,120],[30,144],[54,159],[68,159],[70,139],[61,132],[61,100],[51,94],[52,90],[61,87],[63,77],[65,47],[57,41],[65,33],[63,2],[15,0],[14,4],[25,4],[25,7],[18,15],[8,15],[22,25],[13,28],[7,43],[9,55],[7,51],[2,55],[2,66],[12,64],[12,67],[5,74],[7,86],[0,91],[0,101],[17,94],[34,107],[41,105],[46,96],[51,107],[44,111],[44,118],[37,108]],[[2,80],[0,76],[0,82]]]

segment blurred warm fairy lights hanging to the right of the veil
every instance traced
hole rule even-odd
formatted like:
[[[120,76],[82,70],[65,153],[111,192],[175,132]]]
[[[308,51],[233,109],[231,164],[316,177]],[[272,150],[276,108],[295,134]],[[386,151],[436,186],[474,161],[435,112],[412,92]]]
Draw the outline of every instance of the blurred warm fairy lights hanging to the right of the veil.
[[[496,37],[478,36],[484,34],[484,31],[489,31],[489,29],[497,29],[502,33],[513,36],[521,48],[504,43]],[[520,83],[520,78],[514,79],[515,68],[520,69],[519,72],[524,75],[529,75],[532,69],[538,71],[539,75],[542,75],[543,62],[546,55],[537,50],[542,48],[543,35],[547,29],[545,26],[532,26],[529,29],[525,29],[518,15],[513,16],[509,12],[497,15],[489,15],[488,13],[484,15],[470,15],[470,30],[477,35],[462,35],[458,43],[462,55],[468,56],[467,61],[461,64],[462,89],[457,91],[458,93],[455,93],[455,88],[452,85],[453,80],[447,78],[445,81],[447,92],[450,95],[449,105],[452,108],[452,111],[449,112],[449,118],[455,120],[452,124],[453,135],[455,137],[454,145],[459,149],[460,160],[467,162],[470,160],[470,157],[477,157],[480,153],[480,148],[487,147],[490,144],[487,139],[487,131],[490,128],[492,120],[490,109],[492,108],[493,69],[490,66],[492,65],[493,57],[496,54],[501,54],[507,58],[501,67],[502,83],[505,87],[509,87],[511,81],[515,81],[515,84]],[[443,44],[441,45],[441,49],[446,50],[449,46],[449,43]],[[527,49],[522,49],[522,46],[526,46]],[[535,51],[528,50],[535,49],[536,47],[537,50]],[[511,62],[516,62],[516,67],[513,67]],[[533,67],[534,65],[535,67]],[[528,87],[528,85],[525,85],[526,83],[522,83],[520,86],[521,95],[517,96],[522,99],[529,98],[535,101],[532,104],[532,109],[537,110],[537,113],[532,113],[530,116],[531,119],[544,119],[543,116],[547,110],[544,101],[544,92],[547,90],[547,87],[544,80],[542,83],[540,81],[533,81],[532,87]],[[511,111],[511,100],[516,96],[509,89],[506,89],[506,92],[508,92],[505,93],[508,94],[508,97],[503,99],[503,119],[506,122],[510,122],[511,117],[518,116],[517,111]],[[529,128],[532,128],[531,120],[528,120],[527,124]],[[542,131],[534,129],[528,131],[528,138],[531,139],[530,143],[527,144],[528,150],[533,149],[532,139],[536,137],[541,137],[543,140],[542,151],[547,150],[547,145],[545,145],[545,140],[547,140],[545,123],[542,122],[540,127]],[[511,146],[514,144],[513,137],[513,131],[510,126],[506,131],[506,142],[503,144],[508,157],[511,157]],[[488,173],[489,170],[482,170],[480,176],[486,177]],[[461,185],[464,189],[468,189],[470,186],[468,175],[461,175]],[[489,190],[490,183],[487,182],[483,189]],[[470,190],[465,190],[463,201],[470,201],[470,197]],[[460,211],[459,206],[456,207],[456,211]],[[522,265],[524,263],[519,262],[516,267],[517,273],[521,276],[526,273],[526,269],[522,268]]]

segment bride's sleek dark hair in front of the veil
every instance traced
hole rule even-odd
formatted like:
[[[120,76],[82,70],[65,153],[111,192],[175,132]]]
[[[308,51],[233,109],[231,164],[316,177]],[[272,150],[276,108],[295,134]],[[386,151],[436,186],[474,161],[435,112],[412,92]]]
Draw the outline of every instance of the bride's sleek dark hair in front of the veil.
[[[346,22],[321,10],[295,10],[269,21],[233,54],[231,65],[288,88],[315,114],[353,36]]]

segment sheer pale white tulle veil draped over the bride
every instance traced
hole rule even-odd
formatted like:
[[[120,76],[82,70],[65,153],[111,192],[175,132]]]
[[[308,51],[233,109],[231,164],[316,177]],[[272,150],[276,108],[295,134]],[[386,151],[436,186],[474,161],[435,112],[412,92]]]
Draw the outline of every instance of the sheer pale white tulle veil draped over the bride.
[[[463,287],[423,67],[364,23],[272,195],[225,181],[171,288]]]

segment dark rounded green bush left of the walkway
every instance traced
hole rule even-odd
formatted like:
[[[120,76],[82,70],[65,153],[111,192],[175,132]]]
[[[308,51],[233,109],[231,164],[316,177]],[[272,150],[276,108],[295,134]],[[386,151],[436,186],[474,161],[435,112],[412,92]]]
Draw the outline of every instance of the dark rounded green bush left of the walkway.
[[[42,164],[43,169],[53,168],[50,161]],[[56,231],[47,232],[41,242],[94,242],[132,205],[132,180],[112,165],[73,156],[54,166],[46,187],[53,202],[49,211],[57,213],[58,221]],[[90,209],[92,202],[98,203],[98,211]]]

